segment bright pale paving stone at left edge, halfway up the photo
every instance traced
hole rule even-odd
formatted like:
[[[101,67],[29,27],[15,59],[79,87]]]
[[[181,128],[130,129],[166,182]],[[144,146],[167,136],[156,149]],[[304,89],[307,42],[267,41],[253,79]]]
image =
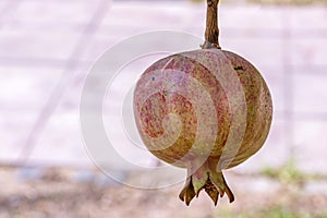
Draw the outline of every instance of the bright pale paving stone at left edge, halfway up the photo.
[[[0,66],[1,110],[39,112],[61,73],[55,69]]]

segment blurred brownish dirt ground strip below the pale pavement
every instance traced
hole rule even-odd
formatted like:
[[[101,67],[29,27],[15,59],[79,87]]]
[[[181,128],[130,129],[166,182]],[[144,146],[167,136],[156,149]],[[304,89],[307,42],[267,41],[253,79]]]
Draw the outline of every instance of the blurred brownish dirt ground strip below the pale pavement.
[[[187,207],[178,198],[183,184],[149,191],[110,180],[102,183],[94,179],[78,181],[73,179],[74,173],[74,170],[47,169],[38,175],[29,173],[26,177],[20,169],[0,168],[0,218],[327,217],[327,192],[324,192],[327,183],[324,181],[295,185],[264,175],[228,172],[234,203],[229,204],[225,196],[215,207],[203,192]]]

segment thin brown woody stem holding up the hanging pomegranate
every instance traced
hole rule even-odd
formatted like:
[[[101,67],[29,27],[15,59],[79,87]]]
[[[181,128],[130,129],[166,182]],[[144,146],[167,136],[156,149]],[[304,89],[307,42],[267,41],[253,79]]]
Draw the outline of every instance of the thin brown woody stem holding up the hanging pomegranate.
[[[219,0],[207,0],[207,24],[205,33],[205,44],[203,49],[218,48],[219,46],[219,28],[218,28],[218,3]]]

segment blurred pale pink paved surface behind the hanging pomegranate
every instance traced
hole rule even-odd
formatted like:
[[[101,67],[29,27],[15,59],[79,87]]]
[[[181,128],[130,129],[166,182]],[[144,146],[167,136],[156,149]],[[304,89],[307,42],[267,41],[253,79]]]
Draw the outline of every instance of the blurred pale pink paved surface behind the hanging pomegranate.
[[[80,130],[88,69],[120,40],[149,31],[203,37],[205,5],[189,1],[1,1],[0,162],[93,166]],[[220,44],[262,72],[275,117],[264,148],[237,168],[294,156],[327,169],[327,8],[220,5]],[[194,45],[197,49],[198,45]]]

